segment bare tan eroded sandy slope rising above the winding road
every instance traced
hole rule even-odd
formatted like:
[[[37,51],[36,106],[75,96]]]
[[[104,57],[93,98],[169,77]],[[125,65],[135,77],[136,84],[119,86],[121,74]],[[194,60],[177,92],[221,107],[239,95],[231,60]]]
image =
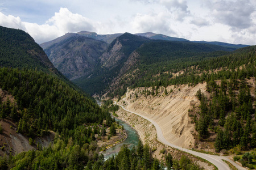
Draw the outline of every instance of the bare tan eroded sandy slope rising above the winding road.
[[[144,95],[143,90],[145,89],[137,88],[134,91],[128,90],[126,97],[119,103],[125,101],[127,109],[154,120],[160,125],[168,142],[180,147],[191,148],[195,143],[192,135],[195,128],[188,116],[188,109],[199,104],[195,95],[199,89],[205,92],[205,86],[206,83],[197,84],[195,87],[169,86],[167,95],[164,94],[164,88],[159,88],[157,96]],[[171,89],[174,91],[170,93]],[[151,88],[148,90],[151,91]]]

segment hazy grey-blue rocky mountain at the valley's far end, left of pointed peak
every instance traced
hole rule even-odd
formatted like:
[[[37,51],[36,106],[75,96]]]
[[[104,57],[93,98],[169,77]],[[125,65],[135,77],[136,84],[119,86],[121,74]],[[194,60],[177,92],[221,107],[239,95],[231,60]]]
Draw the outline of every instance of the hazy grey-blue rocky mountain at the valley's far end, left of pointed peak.
[[[41,46],[53,65],[68,79],[73,80],[92,73],[108,44],[76,33],[67,33]]]

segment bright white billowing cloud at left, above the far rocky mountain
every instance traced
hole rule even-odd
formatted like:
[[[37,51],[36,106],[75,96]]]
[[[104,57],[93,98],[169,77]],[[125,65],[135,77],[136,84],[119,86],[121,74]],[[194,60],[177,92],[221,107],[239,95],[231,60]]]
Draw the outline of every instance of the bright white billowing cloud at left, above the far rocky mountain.
[[[67,8],[60,8],[45,24],[22,22],[19,17],[6,16],[0,12],[0,25],[18,28],[28,32],[36,42],[42,43],[55,39],[67,32],[94,31],[93,22],[79,14],[73,14]]]

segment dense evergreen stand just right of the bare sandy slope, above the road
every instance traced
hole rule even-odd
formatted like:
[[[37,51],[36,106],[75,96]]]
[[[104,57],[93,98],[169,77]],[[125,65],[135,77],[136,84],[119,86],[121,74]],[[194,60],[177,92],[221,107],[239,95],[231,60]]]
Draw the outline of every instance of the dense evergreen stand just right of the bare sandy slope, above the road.
[[[195,128],[199,138],[207,138],[209,131],[217,133],[216,151],[237,146],[243,150],[256,147],[255,99],[250,88],[245,79],[224,77],[219,85],[214,80],[207,82],[210,100],[197,91],[200,115],[194,117]]]

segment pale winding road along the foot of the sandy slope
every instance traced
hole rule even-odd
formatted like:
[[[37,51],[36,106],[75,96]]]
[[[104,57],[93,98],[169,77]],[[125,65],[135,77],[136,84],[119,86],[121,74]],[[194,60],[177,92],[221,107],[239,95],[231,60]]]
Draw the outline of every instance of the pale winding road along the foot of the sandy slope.
[[[126,102],[129,103],[129,101],[126,101]],[[114,104],[117,104],[117,103],[114,101]],[[119,105],[119,104],[117,104],[117,105]],[[219,170],[230,170],[229,166],[221,160],[221,159],[224,158],[224,156],[203,154],[203,153],[200,153],[200,152],[188,150],[187,148],[182,148],[182,147],[176,146],[176,145],[168,142],[166,140],[166,138],[164,138],[162,129],[160,128],[160,126],[158,124],[156,124],[155,121],[153,121],[150,118],[145,117],[145,116],[143,116],[141,114],[135,113],[133,111],[129,111],[125,107],[123,107],[122,105],[119,105],[119,106],[122,107],[123,110],[125,110],[127,112],[131,112],[133,114],[137,114],[138,116],[141,116],[142,118],[150,121],[155,126],[156,133],[158,134],[158,141],[162,142],[164,145],[168,145],[168,146],[171,146],[173,148],[177,148],[178,150],[181,150],[181,151],[184,151],[184,152],[188,152],[189,154],[192,154],[192,155],[195,155],[195,156],[199,156],[200,158],[208,160],[210,163],[214,164]]]

